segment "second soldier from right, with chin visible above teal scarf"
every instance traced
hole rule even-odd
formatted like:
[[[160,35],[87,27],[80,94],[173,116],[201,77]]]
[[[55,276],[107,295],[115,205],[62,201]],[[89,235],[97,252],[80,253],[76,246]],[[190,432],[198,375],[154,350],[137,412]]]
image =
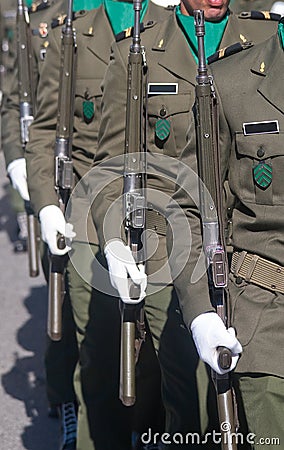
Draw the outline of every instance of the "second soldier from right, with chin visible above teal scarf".
[[[233,14],[227,14],[228,3],[223,2],[222,8],[219,6],[214,9],[210,8],[210,2],[207,1],[182,2],[181,8],[177,7],[175,14],[167,20],[161,23],[146,22],[145,31],[141,34],[148,66],[149,210],[146,213],[146,225],[150,229],[147,248],[152,255],[147,261],[148,295],[145,301],[147,318],[162,369],[166,431],[171,437],[175,432],[181,432],[184,436],[188,432],[201,432],[196,398],[198,358],[183,324],[176,298],[172,296],[172,281],[166,263],[166,223],[163,217],[165,205],[174,192],[176,159],[186,143],[189,112],[194,102],[196,41],[193,17],[188,15],[187,11],[192,14],[194,7],[200,7],[206,10],[209,20],[217,21],[206,22],[206,27],[210,30],[206,47],[209,55],[218,47],[236,41],[244,43],[261,40],[270,36],[276,28],[276,24],[269,20],[243,20]],[[221,14],[221,17],[218,17],[218,14]],[[223,20],[218,20],[220,18]],[[115,252],[113,243],[119,247],[118,252],[123,252],[124,248],[120,241],[123,239],[120,229],[123,220],[121,204],[118,202],[116,210],[115,201],[122,194],[123,182],[119,175],[123,173],[127,57],[131,38],[127,34],[117,37],[117,40],[119,39],[120,42],[112,46],[111,62],[103,84],[99,148],[95,167],[89,175],[89,184],[93,200],[92,215],[101,249],[106,252],[109,267],[116,266],[118,273],[127,273],[128,266],[120,264],[119,254],[116,255],[117,258],[109,257],[110,253]],[[110,207],[111,214],[108,212]],[[157,242],[159,245],[155,252]],[[115,285],[112,272],[110,277]],[[139,273],[137,269],[137,279],[139,278],[145,282],[143,273]],[[201,411],[204,410],[206,408],[201,407]],[[175,448],[173,441],[169,448]],[[178,444],[177,448],[183,448],[182,443]]]

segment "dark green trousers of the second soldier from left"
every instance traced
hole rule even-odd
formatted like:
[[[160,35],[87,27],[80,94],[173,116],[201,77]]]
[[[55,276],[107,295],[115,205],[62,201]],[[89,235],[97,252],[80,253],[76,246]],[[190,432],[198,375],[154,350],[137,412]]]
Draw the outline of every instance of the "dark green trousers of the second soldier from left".
[[[161,426],[159,365],[148,333],[138,364],[137,401],[133,407],[124,406],[119,400],[119,302],[92,287],[93,277],[109,284],[107,270],[94,269],[95,256],[101,258],[98,246],[76,242],[67,268],[80,348],[74,378],[79,403],[77,450],[130,450],[133,431]]]

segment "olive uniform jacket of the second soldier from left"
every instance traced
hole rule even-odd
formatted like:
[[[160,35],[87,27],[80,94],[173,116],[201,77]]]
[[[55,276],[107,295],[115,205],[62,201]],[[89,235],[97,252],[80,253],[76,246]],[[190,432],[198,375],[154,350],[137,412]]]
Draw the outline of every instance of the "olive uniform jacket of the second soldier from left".
[[[146,12],[147,17],[168,15],[165,8],[152,3]],[[101,83],[109,62],[113,31],[103,6],[97,9],[76,14],[74,21],[77,42],[77,74],[75,86],[74,129],[72,159],[76,180],[81,179],[88,171],[97,150],[98,129],[101,119]],[[56,137],[57,106],[61,27],[55,28],[50,35],[50,45],[46,53],[44,70],[41,73],[38,87],[38,109],[34,122],[30,127],[30,142],[26,149],[28,184],[31,201],[36,212],[44,206],[58,204],[54,189],[54,145]],[[86,102],[88,105],[86,105]],[[88,113],[86,113],[86,108]],[[86,115],[87,114],[87,115]],[[79,192],[78,189],[76,192]],[[80,208],[84,210],[84,190],[79,193]],[[87,205],[87,204],[86,204]],[[78,215],[72,217],[76,222]],[[76,239],[96,242],[93,226],[89,224],[88,236],[76,229]]]

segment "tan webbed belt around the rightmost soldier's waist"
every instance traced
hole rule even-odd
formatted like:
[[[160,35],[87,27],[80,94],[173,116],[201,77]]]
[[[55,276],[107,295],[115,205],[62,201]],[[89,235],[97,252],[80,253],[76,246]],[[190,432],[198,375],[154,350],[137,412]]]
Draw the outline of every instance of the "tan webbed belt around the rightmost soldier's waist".
[[[231,272],[249,283],[284,294],[284,267],[258,255],[234,252]]]

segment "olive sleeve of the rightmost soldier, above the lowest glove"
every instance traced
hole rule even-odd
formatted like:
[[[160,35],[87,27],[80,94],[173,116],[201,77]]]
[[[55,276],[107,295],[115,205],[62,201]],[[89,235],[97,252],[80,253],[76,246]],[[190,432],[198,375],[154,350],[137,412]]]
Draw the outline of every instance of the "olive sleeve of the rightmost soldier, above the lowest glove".
[[[230,133],[220,112],[220,151],[225,178]],[[188,142],[182,152],[176,192],[168,206],[167,247],[169,263],[183,319],[188,328],[199,314],[215,311],[209,296],[207,261],[202,244],[202,222],[199,212],[199,188],[196,160],[195,121],[191,121]]]

